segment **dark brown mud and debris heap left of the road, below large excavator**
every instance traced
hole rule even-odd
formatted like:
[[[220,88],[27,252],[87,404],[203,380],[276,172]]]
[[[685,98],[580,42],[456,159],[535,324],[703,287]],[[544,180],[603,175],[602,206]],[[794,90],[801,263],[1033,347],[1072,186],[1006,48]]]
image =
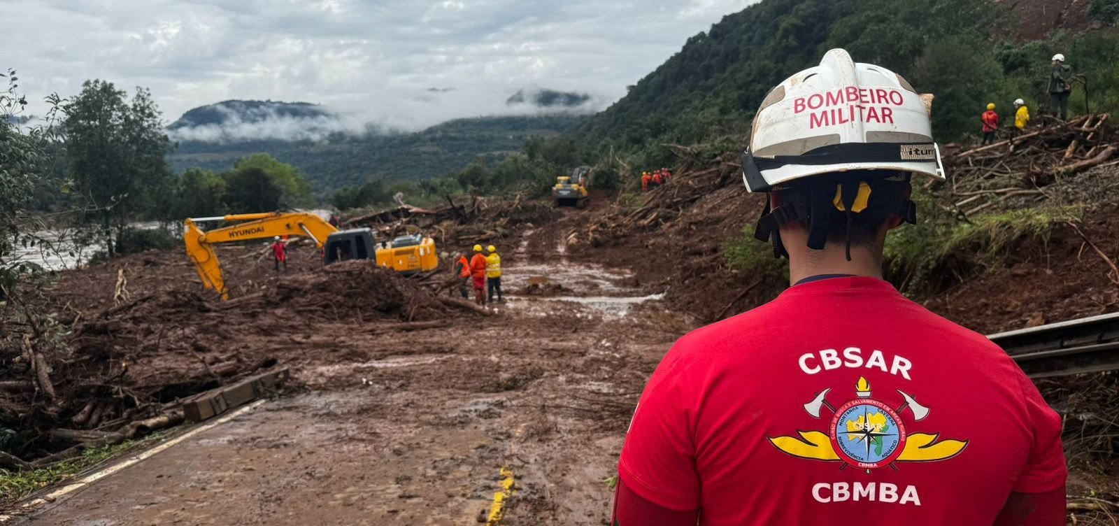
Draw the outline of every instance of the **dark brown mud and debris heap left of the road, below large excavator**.
[[[181,398],[301,359],[314,345],[339,348],[329,335],[312,336],[329,327],[345,326],[339,336],[410,329],[477,310],[368,261],[276,275],[227,302],[182,278],[76,314],[59,341],[27,334],[18,348],[0,344],[0,414],[4,426],[23,430],[0,468],[39,467],[179,423]]]

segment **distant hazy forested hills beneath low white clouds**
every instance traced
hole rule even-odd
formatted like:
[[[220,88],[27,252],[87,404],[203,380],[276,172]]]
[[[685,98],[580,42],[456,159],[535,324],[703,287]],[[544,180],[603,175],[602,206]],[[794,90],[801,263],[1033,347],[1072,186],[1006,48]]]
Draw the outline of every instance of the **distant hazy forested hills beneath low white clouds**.
[[[224,171],[241,157],[265,152],[307,173],[314,194],[326,196],[373,176],[386,181],[442,176],[478,156],[516,152],[529,137],[558,135],[581,119],[568,114],[460,119],[415,133],[333,133],[325,140],[181,141],[168,161],[179,172]]]

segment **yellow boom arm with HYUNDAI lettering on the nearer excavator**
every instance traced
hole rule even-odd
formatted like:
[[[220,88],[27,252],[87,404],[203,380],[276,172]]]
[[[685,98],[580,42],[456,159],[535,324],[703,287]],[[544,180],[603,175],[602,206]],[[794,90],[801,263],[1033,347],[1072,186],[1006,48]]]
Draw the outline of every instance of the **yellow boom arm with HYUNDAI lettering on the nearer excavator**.
[[[203,232],[196,223],[209,220],[247,222],[233,226]],[[195,262],[198,276],[207,289],[213,289],[228,300],[229,293],[222,276],[222,265],[217,261],[214,245],[236,241],[265,239],[274,236],[303,236],[314,242],[320,250],[327,237],[338,228],[314,214],[304,213],[267,213],[235,214],[218,217],[196,217],[184,222],[182,241],[187,245],[187,254]]]

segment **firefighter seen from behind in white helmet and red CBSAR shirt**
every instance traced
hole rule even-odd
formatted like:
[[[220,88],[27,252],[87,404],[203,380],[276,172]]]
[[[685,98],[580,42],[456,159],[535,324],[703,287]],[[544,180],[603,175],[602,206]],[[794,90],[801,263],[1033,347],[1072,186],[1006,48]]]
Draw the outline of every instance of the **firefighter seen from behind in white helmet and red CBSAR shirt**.
[[[1064,524],[1060,416],[990,340],[883,280],[910,178],[944,179],[918,93],[833,49],[755,115],[743,179],[791,287],[661,360],[614,524]]]

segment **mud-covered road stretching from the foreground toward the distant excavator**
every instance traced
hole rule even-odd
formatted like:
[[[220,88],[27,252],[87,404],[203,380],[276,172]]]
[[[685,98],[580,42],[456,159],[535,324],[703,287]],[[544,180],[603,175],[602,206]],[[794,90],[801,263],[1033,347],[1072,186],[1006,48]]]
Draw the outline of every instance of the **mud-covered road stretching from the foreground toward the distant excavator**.
[[[554,229],[510,248],[497,316],[379,337],[314,331],[309,345],[328,353],[281,358],[303,392],[22,524],[477,524],[504,467],[518,491],[502,524],[605,524],[603,480],[632,406],[690,323],[627,270],[567,261]]]

